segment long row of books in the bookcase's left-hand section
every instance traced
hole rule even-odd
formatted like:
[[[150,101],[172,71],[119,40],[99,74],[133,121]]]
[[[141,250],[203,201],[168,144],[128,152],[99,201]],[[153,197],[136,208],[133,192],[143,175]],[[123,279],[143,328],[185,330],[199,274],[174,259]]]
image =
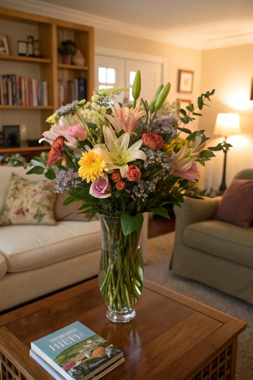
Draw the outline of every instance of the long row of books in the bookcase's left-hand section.
[[[48,106],[48,83],[9,74],[0,76],[2,106]]]

